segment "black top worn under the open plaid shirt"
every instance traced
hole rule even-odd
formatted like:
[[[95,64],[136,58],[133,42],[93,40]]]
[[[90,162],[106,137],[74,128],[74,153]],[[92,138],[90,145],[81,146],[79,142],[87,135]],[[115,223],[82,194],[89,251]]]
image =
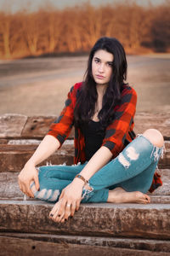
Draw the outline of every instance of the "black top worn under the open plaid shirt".
[[[105,137],[105,131],[101,130],[100,122],[90,120],[87,125],[83,125],[82,133],[85,138],[86,160],[90,160],[95,152],[101,147]]]

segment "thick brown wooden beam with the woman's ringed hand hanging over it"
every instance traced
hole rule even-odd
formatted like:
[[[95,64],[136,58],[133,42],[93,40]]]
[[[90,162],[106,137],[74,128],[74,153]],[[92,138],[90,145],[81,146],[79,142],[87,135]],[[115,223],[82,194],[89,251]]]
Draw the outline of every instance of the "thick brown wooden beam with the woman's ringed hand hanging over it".
[[[82,204],[64,224],[48,218],[53,206],[42,201],[0,201],[0,230],[170,240],[169,204]]]

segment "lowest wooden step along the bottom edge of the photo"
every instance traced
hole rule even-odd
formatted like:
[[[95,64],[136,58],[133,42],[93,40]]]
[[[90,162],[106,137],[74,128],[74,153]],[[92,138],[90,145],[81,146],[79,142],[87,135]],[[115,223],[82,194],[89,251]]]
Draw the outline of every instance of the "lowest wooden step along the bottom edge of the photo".
[[[0,255],[169,255],[170,242],[150,239],[125,239],[97,236],[57,236],[0,233]],[[4,252],[4,253],[2,253]]]

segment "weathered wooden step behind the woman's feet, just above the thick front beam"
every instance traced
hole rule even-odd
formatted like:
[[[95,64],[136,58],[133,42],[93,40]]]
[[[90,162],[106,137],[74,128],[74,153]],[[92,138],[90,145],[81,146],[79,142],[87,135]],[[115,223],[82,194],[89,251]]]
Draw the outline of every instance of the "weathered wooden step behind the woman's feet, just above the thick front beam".
[[[24,200],[17,182],[19,172],[0,173],[0,198],[5,200]],[[170,170],[161,170],[163,185],[149,193],[153,203],[170,203]],[[27,198],[27,200],[31,200]]]

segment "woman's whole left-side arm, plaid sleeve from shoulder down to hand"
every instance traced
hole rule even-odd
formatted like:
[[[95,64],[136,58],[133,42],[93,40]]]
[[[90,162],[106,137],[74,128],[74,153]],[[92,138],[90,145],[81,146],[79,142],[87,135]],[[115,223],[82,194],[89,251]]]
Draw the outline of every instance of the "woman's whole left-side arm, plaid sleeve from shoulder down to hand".
[[[81,83],[71,87],[67,100],[65,101],[65,108],[63,108],[59,118],[50,125],[48,135],[43,138],[42,143],[40,143],[35,153],[31,156],[31,159],[27,161],[20,172],[18,179],[20,189],[28,196],[34,196],[30,189],[31,181],[34,181],[36,183],[36,189],[39,189],[36,166],[61,147],[62,143],[64,143],[70,134],[74,116],[73,102],[75,101],[77,87],[80,85]]]

